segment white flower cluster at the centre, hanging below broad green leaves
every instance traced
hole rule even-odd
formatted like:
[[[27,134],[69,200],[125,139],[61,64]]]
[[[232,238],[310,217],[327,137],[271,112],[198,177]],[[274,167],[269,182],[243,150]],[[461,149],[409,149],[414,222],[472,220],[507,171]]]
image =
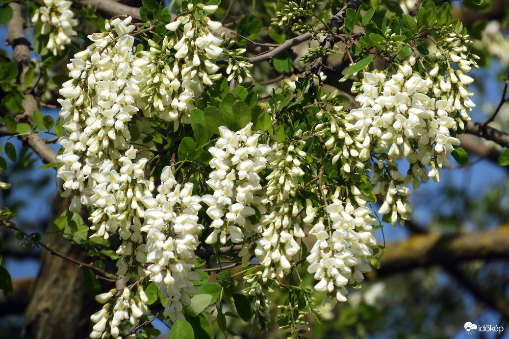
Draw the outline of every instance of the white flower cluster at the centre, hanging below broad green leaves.
[[[261,205],[255,201],[259,199],[256,193],[262,189],[259,173],[266,167],[265,157],[271,147],[259,145],[260,134],[253,134],[251,127],[249,122],[235,133],[219,127],[220,138],[209,148],[213,157],[209,164],[214,170],[207,184],[214,193],[202,197],[212,219],[212,233],[206,243],[215,243],[218,235],[221,243],[226,243],[228,236],[240,243],[260,232],[260,225],[252,225],[247,218],[256,213],[252,204]]]

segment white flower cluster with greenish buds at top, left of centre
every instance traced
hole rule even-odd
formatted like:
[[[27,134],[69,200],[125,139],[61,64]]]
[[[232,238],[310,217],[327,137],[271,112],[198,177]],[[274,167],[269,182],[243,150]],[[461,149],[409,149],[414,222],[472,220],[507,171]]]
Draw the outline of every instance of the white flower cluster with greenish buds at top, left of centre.
[[[223,53],[223,39],[212,34],[221,28],[221,23],[206,16],[195,19],[193,9],[195,7],[189,4],[191,13],[166,25],[170,31],[182,30],[180,40],[176,42],[165,36],[161,45],[150,40],[150,51],[140,53],[153,55],[157,60],[151,65],[149,86],[142,93],[147,101],[145,114],[175,121],[175,130],[179,120],[190,123],[193,101],[203,93],[204,85],[211,85],[212,80],[221,77],[220,73],[216,74],[219,68],[212,62]],[[217,6],[204,9],[213,13]]]

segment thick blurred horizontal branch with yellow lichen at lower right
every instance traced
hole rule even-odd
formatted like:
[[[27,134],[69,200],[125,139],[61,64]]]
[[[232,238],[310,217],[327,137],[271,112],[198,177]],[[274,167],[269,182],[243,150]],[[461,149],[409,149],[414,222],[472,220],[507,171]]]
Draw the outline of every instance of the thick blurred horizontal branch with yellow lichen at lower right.
[[[467,260],[509,258],[509,225],[495,231],[460,235],[418,234],[388,244],[380,258],[383,276],[417,267],[450,265]]]

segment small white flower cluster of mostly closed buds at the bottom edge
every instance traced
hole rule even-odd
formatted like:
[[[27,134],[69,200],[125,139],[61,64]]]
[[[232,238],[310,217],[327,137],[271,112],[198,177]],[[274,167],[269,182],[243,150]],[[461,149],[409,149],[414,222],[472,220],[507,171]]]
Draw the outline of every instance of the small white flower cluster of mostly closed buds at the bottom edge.
[[[147,302],[149,299],[142,287],[138,286],[139,296],[133,297],[129,288],[125,287],[115,302],[115,304],[105,304],[103,308],[93,314],[90,319],[95,323],[90,333],[91,339],[105,338],[111,336],[115,339],[134,338],[135,335],[122,335],[131,326],[138,323],[138,319],[144,313],[149,313]],[[116,289],[109,292],[99,294],[96,300],[105,303],[118,293]],[[111,307],[112,306],[112,307]],[[124,324],[125,320],[129,320],[128,324]]]

